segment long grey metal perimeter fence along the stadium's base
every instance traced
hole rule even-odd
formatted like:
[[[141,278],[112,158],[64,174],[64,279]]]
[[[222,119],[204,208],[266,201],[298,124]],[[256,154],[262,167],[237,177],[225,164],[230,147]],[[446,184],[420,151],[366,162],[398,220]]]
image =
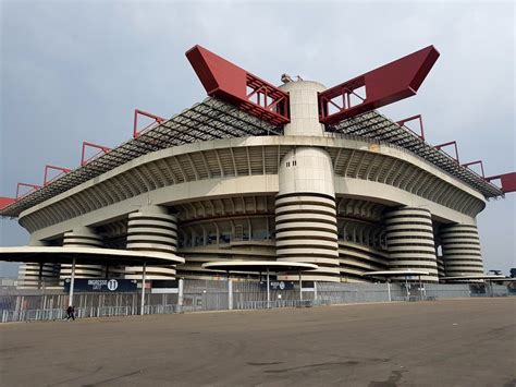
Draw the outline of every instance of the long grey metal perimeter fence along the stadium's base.
[[[507,286],[425,283],[422,289],[403,283],[312,282],[310,288],[270,290],[267,301],[265,283],[257,281],[182,280],[172,293],[75,293],[77,318],[170,314],[196,311],[259,310],[267,307],[303,307],[389,301],[417,301],[468,297],[516,295]],[[69,294],[61,289],[0,289],[0,322],[57,321],[65,318]]]

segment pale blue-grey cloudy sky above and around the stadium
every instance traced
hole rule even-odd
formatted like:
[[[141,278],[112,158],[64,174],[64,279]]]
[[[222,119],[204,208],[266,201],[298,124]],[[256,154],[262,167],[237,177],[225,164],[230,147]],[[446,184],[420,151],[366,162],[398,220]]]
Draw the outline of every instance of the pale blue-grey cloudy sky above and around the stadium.
[[[135,108],[171,117],[202,100],[184,56],[196,44],[273,84],[287,73],[328,87],[434,45],[418,95],[380,111],[422,114],[429,143],[456,140],[488,176],[515,171],[515,12],[513,1],[0,0],[0,196],[40,184],[47,164],[77,167],[83,141],[128,140]],[[478,216],[486,270],[516,267],[515,196]],[[0,220],[0,245],[27,242]]]

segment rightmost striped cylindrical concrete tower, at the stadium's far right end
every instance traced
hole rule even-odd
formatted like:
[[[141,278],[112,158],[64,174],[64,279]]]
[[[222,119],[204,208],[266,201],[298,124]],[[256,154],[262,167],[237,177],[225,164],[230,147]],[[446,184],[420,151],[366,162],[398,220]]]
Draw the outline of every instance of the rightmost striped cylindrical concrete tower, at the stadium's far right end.
[[[454,225],[441,229],[444,273],[446,277],[483,274],[482,253],[477,226]]]

